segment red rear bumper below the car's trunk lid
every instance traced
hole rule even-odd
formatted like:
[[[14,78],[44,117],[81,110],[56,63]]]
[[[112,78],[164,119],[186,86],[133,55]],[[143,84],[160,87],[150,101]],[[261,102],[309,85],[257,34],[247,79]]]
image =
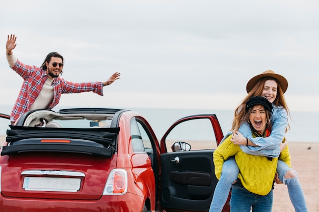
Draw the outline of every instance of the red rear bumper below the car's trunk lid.
[[[102,196],[99,200],[57,200],[36,198],[0,197],[0,211],[6,212],[95,212],[95,211],[142,211],[143,197],[126,193],[124,195]],[[110,210],[110,208],[112,208]]]

